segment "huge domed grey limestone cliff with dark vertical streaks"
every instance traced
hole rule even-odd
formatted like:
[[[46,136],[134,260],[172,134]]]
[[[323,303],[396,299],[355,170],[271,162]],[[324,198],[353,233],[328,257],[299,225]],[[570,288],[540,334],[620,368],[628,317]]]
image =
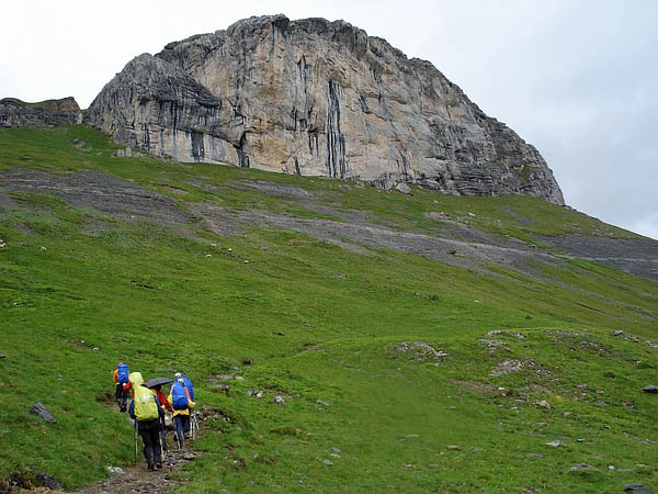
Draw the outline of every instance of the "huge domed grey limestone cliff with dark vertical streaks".
[[[251,18],[140,55],[88,122],[181,161],[564,204],[533,146],[429,61],[343,21]]]

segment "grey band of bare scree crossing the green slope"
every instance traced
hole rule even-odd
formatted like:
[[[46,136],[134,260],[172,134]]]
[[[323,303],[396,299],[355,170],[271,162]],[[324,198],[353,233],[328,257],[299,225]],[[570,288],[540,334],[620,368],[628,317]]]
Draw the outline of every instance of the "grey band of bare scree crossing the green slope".
[[[529,276],[538,276],[532,265],[564,262],[565,259],[594,260],[615,269],[658,280],[658,242],[649,238],[614,239],[592,235],[565,235],[542,238],[553,247],[547,251],[522,242],[477,231],[468,225],[436,217],[435,232],[400,229],[368,214],[332,207],[317,201],[321,192],[266,181],[236,181],[232,187],[256,188],[275,198],[296,202],[326,217],[295,217],[271,211],[235,211],[216,204],[189,204],[188,211],[174,200],[128,180],[82,170],[55,175],[42,170],[14,169],[0,177],[1,192],[48,192],[75,206],[92,207],[124,220],[143,220],[178,226],[197,225],[218,235],[234,235],[247,225],[299,232],[362,255],[376,249],[392,249],[429,257],[460,268],[487,271],[488,263],[503,265]],[[9,194],[4,194],[9,197]],[[11,200],[0,200],[0,211],[10,209]],[[526,218],[518,218],[527,221]],[[102,225],[101,225],[102,226]],[[94,225],[90,225],[93,228]]]

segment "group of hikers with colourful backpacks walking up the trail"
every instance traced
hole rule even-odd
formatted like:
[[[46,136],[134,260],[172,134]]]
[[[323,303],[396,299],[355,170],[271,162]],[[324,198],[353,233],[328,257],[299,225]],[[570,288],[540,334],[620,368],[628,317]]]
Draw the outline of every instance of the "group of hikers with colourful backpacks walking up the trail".
[[[167,433],[170,426],[173,425],[174,439],[180,449],[185,447],[185,439],[191,436],[190,417],[195,413],[192,381],[180,372],[173,379],[145,381],[140,372],[129,372],[124,362],[116,364],[113,378],[116,404],[121,412],[127,412],[135,422],[135,430],[144,442],[148,470],[161,469],[162,456],[168,452]],[[171,383],[168,395],[162,391],[162,385],[167,383]],[[128,396],[132,397],[129,405]]]

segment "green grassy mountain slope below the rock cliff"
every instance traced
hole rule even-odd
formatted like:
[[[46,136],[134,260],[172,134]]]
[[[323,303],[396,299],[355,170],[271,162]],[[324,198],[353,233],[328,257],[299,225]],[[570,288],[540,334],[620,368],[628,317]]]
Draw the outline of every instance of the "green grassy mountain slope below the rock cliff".
[[[76,149],[73,138],[89,149]],[[441,211],[527,242],[569,232],[631,235],[527,198],[408,198],[111,158],[112,148],[83,127],[1,131],[0,173],[94,169],[169,194],[181,207],[206,201],[317,214],[235,182],[268,180],[321,190],[333,207],[419,229],[436,226],[423,213]],[[544,281],[496,267],[492,277],[258,226],[218,237],[127,223],[47,194],[14,193],[12,201],[0,211],[0,478],[46,471],[73,487],[106,474],[106,465],[129,463],[131,426],[106,400],[111,371],[125,360],[147,377],[184,369],[200,402],[231,417],[207,424],[195,445],[207,453],[184,472],[184,492],[658,489],[656,404],[640,392],[658,379],[656,349],[644,343],[658,339],[656,283],[578,260],[540,266]],[[504,333],[487,336],[492,329]],[[615,329],[639,341],[614,337]],[[500,346],[490,352],[479,339]],[[418,361],[418,340],[446,357]],[[402,341],[411,349],[401,351]],[[490,375],[512,359],[523,362],[520,371]],[[227,372],[245,378],[229,381],[228,397],[214,391]],[[265,397],[247,396],[253,389]],[[271,403],[275,394],[284,406]],[[29,413],[36,402],[57,424]],[[564,446],[545,446],[556,439]],[[576,463],[590,469],[571,472]]]

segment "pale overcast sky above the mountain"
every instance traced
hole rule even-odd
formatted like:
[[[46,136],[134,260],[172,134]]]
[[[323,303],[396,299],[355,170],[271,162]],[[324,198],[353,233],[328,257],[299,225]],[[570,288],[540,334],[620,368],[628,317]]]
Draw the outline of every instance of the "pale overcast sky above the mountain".
[[[658,0],[2,2],[0,98],[87,108],[124,65],[251,15],[343,19],[535,145],[567,204],[658,239]]]

